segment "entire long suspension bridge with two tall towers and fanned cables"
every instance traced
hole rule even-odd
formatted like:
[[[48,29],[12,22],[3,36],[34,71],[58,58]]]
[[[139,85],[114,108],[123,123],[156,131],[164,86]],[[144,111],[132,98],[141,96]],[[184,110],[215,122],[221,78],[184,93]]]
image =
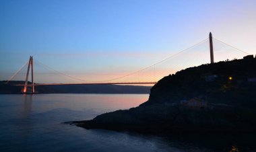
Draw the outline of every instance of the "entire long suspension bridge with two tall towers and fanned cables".
[[[219,44],[216,46],[215,44]],[[201,51],[200,51],[201,50]],[[210,50],[210,51],[209,51]],[[210,58],[207,57],[210,53]],[[42,65],[46,69],[54,71],[58,75],[62,75],[63,77],[67,77],[69,79],[73,79],[75,81],[79,81],[78,83],[35,83],[34,82],[34,59],[33,56],[30,56],[29,61],[24,64],[16,73],[14,73],[9,80],[12,81],[18,73],[24,67],[26,68],[26,79],[23,84],[15,84],[16,86],[24,86],[23,93],[35,93],[35,87],[39,85],[141,85],[141,84],[155,84],[158,80],[162,79],[162,77],[166,75],[173,74],[181,69],[185,69],[191,66],[198,66],[201,64],[209,64],[214,63],[214,61],[224,61],[225,59],[238,59],[239,57],[243,57],[248,55],[249,53],[239,50],[234,46],[226,44],[221,40],[212,37],[210,33],[209,38],[202,40],[201,42],[194,44],[193,46],[177,52],[176,54],[172,54],[168,56],[166,59],[154,63],[148,67],[143,69],[139,69],[138,71],[127,73],[126,75],[122,75],[119,77],[114,77],[112,79],[106,79],[101,81],[88,81],[85,79],[80,79],[77,77],[73,77],[71,75],[67,75],[63,72],[57,71],[47,65],[44,65],[40,61],[36,61],[39,65]],[[209,62],[210,59],[210,62]],[[156,68],[160,70],[156,70]],[[149,72],[154,71],[154,72]],[[31,74],[31,82],[28,81],[29,76]],[[156,76],[157,75],[157,76]],[[24,81],[24,80],[23,80]]]

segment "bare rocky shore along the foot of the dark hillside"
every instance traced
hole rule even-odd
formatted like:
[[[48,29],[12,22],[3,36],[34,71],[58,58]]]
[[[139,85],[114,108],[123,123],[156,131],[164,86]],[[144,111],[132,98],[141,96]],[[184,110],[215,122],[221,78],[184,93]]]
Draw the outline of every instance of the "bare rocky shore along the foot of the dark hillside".
[[[151,110],[155,110],[150,112]],[[171,132],[256,132],[255,120],[241,120],[243,110],[181,110],[160,105],[117,110],[93,120],[68,122],[86,129],[107,129],[144,133]],[[251,112],[255,115],[255,112]]]

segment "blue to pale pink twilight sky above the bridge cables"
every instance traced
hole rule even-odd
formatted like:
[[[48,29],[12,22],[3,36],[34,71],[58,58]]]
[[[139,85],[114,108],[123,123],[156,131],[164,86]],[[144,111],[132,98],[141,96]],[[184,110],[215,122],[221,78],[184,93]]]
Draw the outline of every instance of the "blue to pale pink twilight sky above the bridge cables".
[[[30,55],[79,79],[113,79],[189,48],[209,32],[256,54],[255,7],[255,0],[1,0],[0,79],[9,79]]]

